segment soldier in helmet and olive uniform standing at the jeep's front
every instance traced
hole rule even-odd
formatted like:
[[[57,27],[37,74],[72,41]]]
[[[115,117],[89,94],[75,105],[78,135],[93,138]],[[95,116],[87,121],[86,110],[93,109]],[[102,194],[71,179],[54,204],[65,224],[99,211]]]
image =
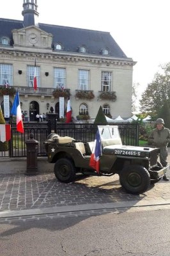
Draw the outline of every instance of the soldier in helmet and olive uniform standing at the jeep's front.
[[[148,137],[149,145],[160,148],[160,163],[162,166],[167,166],[167,144],[170,142],[169,129],[164,127],[164,120],[158,118],[156,121],[157,128],[153,129],[150,136]],[[166,173],[163,177],[164,180],[168,181]]]

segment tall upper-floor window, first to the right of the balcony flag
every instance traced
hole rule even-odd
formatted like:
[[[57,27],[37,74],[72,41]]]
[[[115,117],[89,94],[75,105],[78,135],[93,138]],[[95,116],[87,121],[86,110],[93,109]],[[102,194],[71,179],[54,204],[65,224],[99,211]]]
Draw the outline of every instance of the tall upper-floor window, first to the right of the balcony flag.
[[[65,68],[54,68],[54,88],[63,89],[66,83]]]

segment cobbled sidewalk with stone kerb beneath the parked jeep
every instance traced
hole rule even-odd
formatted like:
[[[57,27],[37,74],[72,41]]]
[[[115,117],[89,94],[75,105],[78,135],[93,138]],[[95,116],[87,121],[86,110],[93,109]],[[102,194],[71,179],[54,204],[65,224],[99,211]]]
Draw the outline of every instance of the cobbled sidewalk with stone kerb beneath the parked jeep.
[[[170,171],[167,175],[170,177]],[[1,173],[0,220],[54,212],[68,214],[85,210],[109,211],[122,207],[132,209],[146,205],[170,206],[170,182],[164,180],[151,185],[142,195],[131,195],[121,188],[118,175],[79,178],[65,184],[58,182],[53,172],[32,176],[26,176],[24,172]]]

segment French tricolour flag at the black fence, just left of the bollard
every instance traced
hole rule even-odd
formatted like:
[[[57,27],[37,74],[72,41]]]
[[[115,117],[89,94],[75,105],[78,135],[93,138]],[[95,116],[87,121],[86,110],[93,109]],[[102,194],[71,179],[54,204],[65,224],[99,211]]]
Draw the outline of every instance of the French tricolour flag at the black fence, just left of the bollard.
[[[21,113],[21,109],[20,109],[19,92],[17,92],[15,95],[11,113],[12,113],[12,115],[17,116],[17,131],[24,133],[24,125],[22,122],[22,113]]]

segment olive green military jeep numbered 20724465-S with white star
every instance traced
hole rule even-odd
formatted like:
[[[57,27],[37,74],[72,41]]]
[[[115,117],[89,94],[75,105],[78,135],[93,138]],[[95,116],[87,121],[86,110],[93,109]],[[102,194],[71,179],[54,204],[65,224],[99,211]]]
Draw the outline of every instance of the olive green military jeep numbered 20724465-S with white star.
[[[54,173],[60,182],[73,182],[76,173],[111,176],[118,173],[120,184],[128,193],[146,191],[167,171],[158,164],[159,148],[122,145],[118,126],[98,125],[102,142],[100,172],[89,166],[95,141],[86,143],[70,137],[50,134],[45,141],[49,163],[55,163]]]

